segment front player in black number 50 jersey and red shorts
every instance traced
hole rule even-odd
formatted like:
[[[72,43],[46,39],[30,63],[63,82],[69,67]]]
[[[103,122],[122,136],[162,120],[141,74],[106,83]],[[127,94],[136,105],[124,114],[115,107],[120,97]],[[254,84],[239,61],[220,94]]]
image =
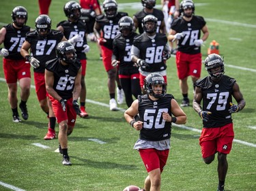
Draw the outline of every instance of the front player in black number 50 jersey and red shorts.
[[[139,133],[134,149],[139,151],[147,169],[144,189],[160,190],[161,173],[170,150],[171,123],[185,124],[186,114],[172,94],[166,94],[167,84],[159,73],[150,73],[144,81],[147,94],[139,96],[124,112],[124,118]],[[139,121],[134,116],[139,114]]]

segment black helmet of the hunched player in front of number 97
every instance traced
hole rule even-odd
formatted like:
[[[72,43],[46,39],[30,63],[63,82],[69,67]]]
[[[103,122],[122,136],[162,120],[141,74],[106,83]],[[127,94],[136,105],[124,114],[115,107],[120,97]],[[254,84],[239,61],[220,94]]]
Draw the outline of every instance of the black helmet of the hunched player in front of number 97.
[[[67,56],[66,53],[72,52],[73,56]],[[56,47],[57,58],[65,63],[74,64],[76,62],[76,49],[69,41],[61,41]]]

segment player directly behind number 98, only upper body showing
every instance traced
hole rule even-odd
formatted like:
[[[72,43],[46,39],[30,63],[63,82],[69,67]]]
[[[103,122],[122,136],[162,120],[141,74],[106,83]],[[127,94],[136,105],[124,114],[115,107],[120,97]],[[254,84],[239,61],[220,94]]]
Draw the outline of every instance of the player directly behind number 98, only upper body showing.
[[[165,31],[165,16],[162,11],[155,9],[156,0],[141,0],[143,10],[137,12],[133,16],[135,29],[139,28],[139,33],[143,33],[142,20],[147,15],[154,15],[157,18],[157,33],[166,33]]]

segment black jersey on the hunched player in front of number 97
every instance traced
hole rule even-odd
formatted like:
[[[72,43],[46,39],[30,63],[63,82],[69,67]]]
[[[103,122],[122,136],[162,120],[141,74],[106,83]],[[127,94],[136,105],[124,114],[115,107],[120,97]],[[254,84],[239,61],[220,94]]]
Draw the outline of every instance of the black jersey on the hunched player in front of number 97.
[[[61,65],[58,58],[49,60],[46,63],[46,69],[54,73],[53,89],[62,99],[68,100],[72,98],[74,80],[80,67],[81,64],[77,61],[74,64]]]

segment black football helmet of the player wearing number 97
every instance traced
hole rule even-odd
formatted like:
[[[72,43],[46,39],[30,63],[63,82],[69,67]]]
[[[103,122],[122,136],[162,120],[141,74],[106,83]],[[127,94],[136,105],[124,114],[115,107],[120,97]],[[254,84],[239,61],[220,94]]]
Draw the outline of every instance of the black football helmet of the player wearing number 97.
[[[51,18],[46,14],[41,14],[35,19],[35,30],[38,35],[42,35],[41,32],[47,31],[46,35],[51,32]]]

